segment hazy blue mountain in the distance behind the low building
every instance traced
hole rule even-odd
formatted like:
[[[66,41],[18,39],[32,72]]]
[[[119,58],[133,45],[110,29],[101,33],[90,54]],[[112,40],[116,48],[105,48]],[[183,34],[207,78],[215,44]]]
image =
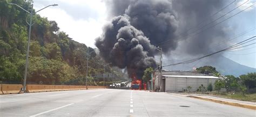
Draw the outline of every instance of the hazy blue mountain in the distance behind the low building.
[[[177,63],[182,60],[173,60],[171,62]],[[170,63],[170,61],[164,60],[164,63]],[[173,67],[165,67],[167,70],[192,70],[193,67],[202,67],[204,65],[211,65],[215,67],[217,71],[219,71],[222,75],[234,75],[240,76],[243,74],[247,74],[248,72],[255,72],[255,68],[247,67],[246,65],[239,64],[234,62],[224,56],[219,56],[217,58],[207,57],[203,58],[199,61],[188,63],[188,64],[179,64]]]

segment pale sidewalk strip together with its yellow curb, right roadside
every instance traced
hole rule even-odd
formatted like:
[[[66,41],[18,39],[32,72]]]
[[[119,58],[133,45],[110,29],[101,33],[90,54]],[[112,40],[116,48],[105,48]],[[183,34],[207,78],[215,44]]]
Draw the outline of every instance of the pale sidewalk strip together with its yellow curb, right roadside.
[[[169,93],[176,96],[183,96],[183,97],[190,97],[190,98],[196,98],[201,100],[207,100],[212,101],[214,103],[220,103],[220,104],[226,104],[226,105],[232,105],[232,106],[238,106],[238,107],[244,107],[249,109],[256,110],[256,103],[250,102],[250,101],[240,101],[240,100],[233,100],[233,99],[226,99],[226,98],[218,98],[213,96],[205,96],[204,94],[193,94],[193,93],[186,93],[186,94],[180,94],[180,93]]]

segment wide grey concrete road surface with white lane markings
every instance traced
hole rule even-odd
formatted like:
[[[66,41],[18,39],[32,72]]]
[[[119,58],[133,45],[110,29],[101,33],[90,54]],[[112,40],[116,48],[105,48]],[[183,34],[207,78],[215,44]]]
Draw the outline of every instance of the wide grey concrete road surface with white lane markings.
[[[255,116],[252,109],[164,92],[116,89],[5,94],[0,116]]]

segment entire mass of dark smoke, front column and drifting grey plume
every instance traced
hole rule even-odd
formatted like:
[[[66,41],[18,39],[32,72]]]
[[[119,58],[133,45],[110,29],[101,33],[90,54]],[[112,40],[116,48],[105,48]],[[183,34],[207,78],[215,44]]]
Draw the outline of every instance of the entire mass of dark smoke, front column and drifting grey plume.
[[[189,27],[201,23],[222,4],[220,0],[107,1],[111,23],[104,26],[96,46],[105,61],[127,68],[129,75],[136,72],[141,77],[146,67],[156,67],[153,57],[157,51],[153,45],[165,42],[161,43],[165,45],[162,46],[165,54],[184,46],[183,53],[197,55],[205,53],[209,43],[223,39],[225,33],[217,27],[186,40],[188,43],[178,43],[187,38]],[[180,38],[179,34],[185,36]]]

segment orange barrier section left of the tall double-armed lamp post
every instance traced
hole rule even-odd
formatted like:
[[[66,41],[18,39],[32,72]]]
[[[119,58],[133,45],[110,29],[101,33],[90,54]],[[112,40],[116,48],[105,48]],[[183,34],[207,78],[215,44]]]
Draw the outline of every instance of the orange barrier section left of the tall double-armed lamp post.
[[[21,92],[21,84],[2,84],[2,93],[3,94],[12,94]]]

